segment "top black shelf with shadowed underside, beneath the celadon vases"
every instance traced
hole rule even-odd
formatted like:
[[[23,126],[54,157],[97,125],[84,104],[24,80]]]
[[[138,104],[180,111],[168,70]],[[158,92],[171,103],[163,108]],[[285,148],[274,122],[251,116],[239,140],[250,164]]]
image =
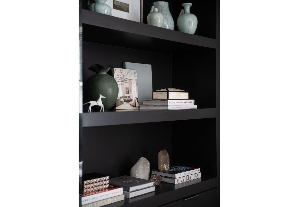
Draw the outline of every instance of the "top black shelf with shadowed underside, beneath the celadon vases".
[[[155,27],[82,9],[83,41],[172,53],[181,49],[217,48],[217,40]]]

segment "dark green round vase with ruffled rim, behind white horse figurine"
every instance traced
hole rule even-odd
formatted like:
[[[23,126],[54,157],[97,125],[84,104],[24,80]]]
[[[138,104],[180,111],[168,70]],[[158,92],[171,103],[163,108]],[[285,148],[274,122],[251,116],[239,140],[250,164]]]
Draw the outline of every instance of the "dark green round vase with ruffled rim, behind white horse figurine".
[[[86,102],[97,101],[100,94],[105,96],[105,98],[101,99],[104,111],[113,107],[119,94],[119,87],[116,80],[106,74],[109,69],[110,66],[105,68],[98,64],[90,66],[89,70],[94,71],[96,74],[91,75],[83,85],[83,96]],[[92,109],[100,111],[101,106],[93,106]]]

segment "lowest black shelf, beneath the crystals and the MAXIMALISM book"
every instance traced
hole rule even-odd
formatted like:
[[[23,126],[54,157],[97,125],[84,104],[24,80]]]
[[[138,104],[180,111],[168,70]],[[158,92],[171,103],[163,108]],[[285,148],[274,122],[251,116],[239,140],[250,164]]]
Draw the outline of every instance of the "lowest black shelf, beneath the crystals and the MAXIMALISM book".
[[[217,187],[218,179],[214,176],[202,175],[201,178],[187,181],[180,184],[170,184],[161,182],[159,186],[155,187],[155,192],[148,193],[146,195],[141,195],[135,198],[125,198],[124,204],[120,206],[125,207],[154,207],[164,205],[190,195],[195,195],[200,192],[213,189]],[[107,207],[113,206],[106,205]]]

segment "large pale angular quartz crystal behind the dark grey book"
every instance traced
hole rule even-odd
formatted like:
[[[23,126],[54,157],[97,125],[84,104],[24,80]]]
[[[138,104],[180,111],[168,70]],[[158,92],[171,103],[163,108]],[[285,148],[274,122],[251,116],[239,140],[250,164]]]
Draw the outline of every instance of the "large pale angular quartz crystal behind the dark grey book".
[[[131,177],[149,179],[149,160],[141,157],[138,162],[131,168]]]

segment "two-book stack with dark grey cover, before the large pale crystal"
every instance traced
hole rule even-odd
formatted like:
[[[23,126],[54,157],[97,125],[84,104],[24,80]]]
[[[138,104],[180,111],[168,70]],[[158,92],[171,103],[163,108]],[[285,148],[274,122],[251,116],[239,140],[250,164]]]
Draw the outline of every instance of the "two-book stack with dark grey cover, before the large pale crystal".
[[[155,191],[154,181],[131,176],[110,179],[110,184],[122,187],[125,198],[134,198]]]

